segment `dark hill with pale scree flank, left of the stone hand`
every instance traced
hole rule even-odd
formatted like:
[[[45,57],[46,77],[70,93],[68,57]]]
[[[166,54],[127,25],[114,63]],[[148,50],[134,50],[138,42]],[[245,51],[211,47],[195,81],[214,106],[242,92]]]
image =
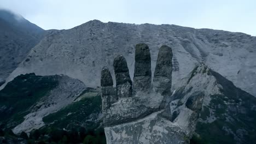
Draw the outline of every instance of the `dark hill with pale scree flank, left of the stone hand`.
[[[68,76],[20,75],[0,91],[1,125],[14,128],[16,134],[39,129],[45,125],[43,117],[81,100],[88,92],[83,82]]]

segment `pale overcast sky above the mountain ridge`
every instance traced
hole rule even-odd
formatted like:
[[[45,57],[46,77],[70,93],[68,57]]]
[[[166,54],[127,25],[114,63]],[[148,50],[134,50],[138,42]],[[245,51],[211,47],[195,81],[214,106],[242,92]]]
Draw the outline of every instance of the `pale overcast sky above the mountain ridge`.
[[[256,36],[255,0],[0,0],[43,29],[69,29],[90,20],[173,24]]]

